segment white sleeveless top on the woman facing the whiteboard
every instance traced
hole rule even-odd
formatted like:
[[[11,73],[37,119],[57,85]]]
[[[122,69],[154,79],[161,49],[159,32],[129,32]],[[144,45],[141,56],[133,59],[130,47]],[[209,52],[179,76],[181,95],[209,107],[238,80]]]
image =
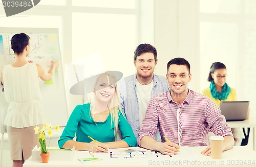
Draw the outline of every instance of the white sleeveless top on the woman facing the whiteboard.
[[[5,65],[3,79],[5,99],[9,103],[4,124],[13,128],[44,124],[36,64]]]

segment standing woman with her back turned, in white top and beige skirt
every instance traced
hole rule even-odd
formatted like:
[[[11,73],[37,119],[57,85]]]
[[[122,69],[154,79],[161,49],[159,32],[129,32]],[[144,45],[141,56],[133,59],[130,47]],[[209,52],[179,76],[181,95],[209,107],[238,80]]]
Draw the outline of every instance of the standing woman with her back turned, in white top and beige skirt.
[[[11,159],[15,167],[23,166],[24,160],[31,156],[32,149],[38,143],[34,128],[45,123],[38,77],[43,81],[51,80],[58,66],[57,62],[52,62],[47,73],[41,65],[27,62],[29,39],[25,33],[12,37],[11,48],[15,60],[5,65],[2,73],[5,98],[9,103],[4,124],[7,126]]]

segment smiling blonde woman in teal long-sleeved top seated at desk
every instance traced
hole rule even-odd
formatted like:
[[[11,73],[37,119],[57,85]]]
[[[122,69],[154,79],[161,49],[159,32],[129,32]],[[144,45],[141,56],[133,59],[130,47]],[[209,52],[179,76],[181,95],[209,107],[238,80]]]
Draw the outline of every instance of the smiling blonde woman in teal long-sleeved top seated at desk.
[[[99,75],[89,96],[89,103],[75,107],[58,140],[59,148],[70,149],[75,146],[76,150],[107,152],[109,148],[137,145],[133,130],[120,107],[114,72],[117,71]],[[122,139],[115,141],[118,129]],[[75,134],[76,141],[73,140]]]

